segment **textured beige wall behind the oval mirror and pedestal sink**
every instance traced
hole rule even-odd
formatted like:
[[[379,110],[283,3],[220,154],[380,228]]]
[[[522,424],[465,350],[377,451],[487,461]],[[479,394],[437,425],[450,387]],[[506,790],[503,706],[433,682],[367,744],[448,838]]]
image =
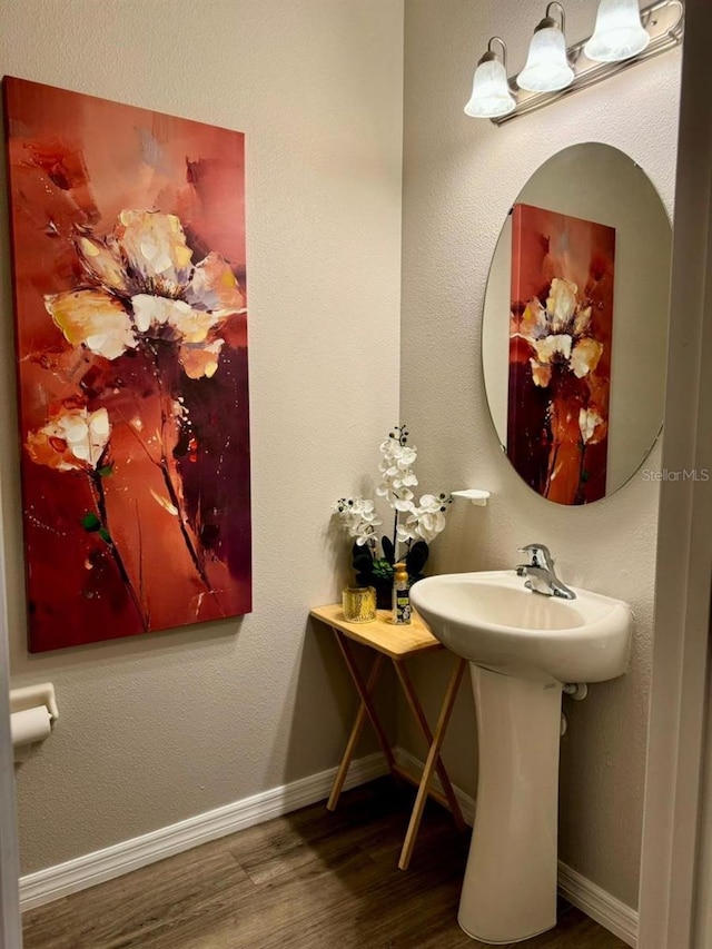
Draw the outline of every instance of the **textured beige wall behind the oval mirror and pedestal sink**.
[[[591,32],[595,4],[567,4],[570,41]],[[629,906],[637,903],[652,652],[657,490],[639,475],[610,498],[566,510],[535,495],[502,455],[479,363],[485,283],[502,223],[551,155],[605,141],[643,167],[671,210],[680,53],[636,67],[503,128],[463,106],[487,39],[524,62],[540,3],[406,0],[402,415],[417,423],[424,480],[486,487],[491,506],[455,507],[434,567],[512,567],[517,547],[546,543],[564,581],[626,600],[635,612],[631,669],[565,700],[561,858]],[[422,434],[421,434],[422,433]],[[649,461],[655,467],[660,449]],[[444,660],[418,679],[442,686]],[[399,723],[406,731],[406,718]],[[456,780],[475,787],[472,703],[461,696],[446,744]]]

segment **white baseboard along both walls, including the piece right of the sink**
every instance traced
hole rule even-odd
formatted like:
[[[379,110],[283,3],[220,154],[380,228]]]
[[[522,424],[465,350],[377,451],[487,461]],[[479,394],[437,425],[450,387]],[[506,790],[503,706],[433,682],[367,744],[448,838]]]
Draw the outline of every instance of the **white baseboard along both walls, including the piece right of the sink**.
[[[397,762],[411,770],[423,767],[422,761],[403,748],[397,748],[395,754]],[[376,752],[352,763],[344,787],[355,788],[387,773],[384,757]],[[125,840],[113,847],[87,853],[66,863],[58,863],[56,867],[48,867],[37,873],[29,873],[20,878],[20,908],[28,910],[43,906],[123,873],[130,873],[139,867],[172,857],[191,847],[198,847],[298,808],[314,804],[328,797],[335,775],[336,768],[329,768],[309,778],[206,811],[151,833]],[[435,783],[439,784],[437,778]],[[463,817],[467,823],[472,824],[475,813],[473,798],[459,788],[454,790]],[[561,861],[558,889],[573,906],[595,919],[633,949],[637,947],[639,919],[635,910]]]

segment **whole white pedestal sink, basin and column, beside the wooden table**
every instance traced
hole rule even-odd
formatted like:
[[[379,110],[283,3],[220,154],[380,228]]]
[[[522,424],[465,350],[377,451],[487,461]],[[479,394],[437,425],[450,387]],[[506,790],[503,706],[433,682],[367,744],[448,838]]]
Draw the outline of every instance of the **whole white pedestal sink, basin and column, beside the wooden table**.
[[[627,604],[573,592],[544,596],[514,571],[431,576],[411,590],[433,635],[469,660],[479,778],[458,922],[482,942],[556,925],[563,685],[615,679],[627,665]]]

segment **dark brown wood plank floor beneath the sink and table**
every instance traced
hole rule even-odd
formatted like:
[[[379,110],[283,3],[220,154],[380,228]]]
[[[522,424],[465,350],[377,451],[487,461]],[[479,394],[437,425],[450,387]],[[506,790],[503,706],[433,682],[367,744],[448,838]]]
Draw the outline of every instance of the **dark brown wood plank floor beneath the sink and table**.
[[[428,804],[396,867],[412,794],[389,779],[24,915],[26,949],[477,949],[457,926],[467,838]],[[578,910],[517,949],[625,949]]]

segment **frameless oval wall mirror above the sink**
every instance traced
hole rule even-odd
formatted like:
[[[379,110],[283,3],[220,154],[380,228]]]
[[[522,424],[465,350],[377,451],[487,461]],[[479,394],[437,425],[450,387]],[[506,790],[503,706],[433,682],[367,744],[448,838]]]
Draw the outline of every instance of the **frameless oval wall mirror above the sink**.
[[[482,368],[487,405],[505,457],[508,456],[512,461],[516,455],[518,459],[517,464],[512,463],[513,471],[520,475],[516,481],[523,482],[535,494],[551,502],[558,502],[570,507],[583,507],[593,503],[594,497],[601,500],[609,497],[623,487],[649,458],[651,448],[660,434],[668,354],[672,244],[670,218],[657,191],[641,166],[624,152],[602,142],[583,142],[556,152],[532,172],[518,194],[513,197],[514,200],[508,205],[511,210],[503,221],[494,249],[484,303]],[[557,294],[561,294],[565,287],[565,285],[556,285],[556,294],[552,294],[554,277],[575,283],[577,288],[573,304],[574,325],[571,327],[574,330],[573,335],[568,332],[552,332],[551,320],[544,323],[538,329],[535,323],[530,333],[531,338],[522,334],[517,347],[517,356],[522,363],[517,364],[515,370],[522,374],[524,382],[528,383],[527,398],[532,403],[528,412],[533,412],[538,405],[538,411],[543,413],[551,402],[550,387],[534,383],[530,359],[535,360],[540,380],[543,380],[547,373],[546,360],[541,359],[536,352],[537,343],[541,353],[544,356],[550,355],[552,377],[555,374],[563,374],[564,367],[570,363],[570,357],[558,348],[558,342],[551,339],[541,342],[544,336],[571,336],[572,353],[577,342],[574,337],[578,335],[584,338],[592,336],[604,345],[606,340],[600,336],[600,313],[596,309],[592,312],[591,324],[585,333],[580,334],[576,328],[576,306],[578,310],[582,308],[585,310],[587,306],[585,294],[589,283],[589,260],[584,256],[581,263],[576,264],[576,276],[566,276],[561,270],[555,273],[552,267],[556,261],[551,247],[546,245],[547,238],[542,234],[532,235],[534,260],[531,273],[520,268],[522,269],[521,280],[530,280],[526,285],[528,288],[522,284],[522,289],[516,290],[513,297],[513,205],[540,209],[537,214],[551,215],[550,220],[555,220],[558,216],[568,226],[574,219],[583,221],[586,227],[591,227],[589,223],[596,221],[596,229],[600,225],[607,225],[611,235],[613,236],[614,233],[615,236],[615,268],[610,275],[615,307],[611,325],[612,336],[609,339],[607,352],[601,354],[595,368],[593,372],[590,368],[587,378],[584,380],[599,389],[604,367],[610,369],[606,416],[602,416],[606,422],[605,482],[600,468],[594,468],[595,455],[603,453],[603,447],[594,443],[603,432],[601,425],[596,424],[595,417],[587,416],[583,433],[583,438],[586,438],[585,456],[580,458],[583,461],[585,478],[585,484],[581,485],[580,491],[583,498],[578,503],[574,501],[573,505],[562,496],[566,492],[562,490],[558,493],[564,484],[558,476],[554,478],[555,491],[545,493],[551,445],[545,444],[542,447],[541,442],[542,438],[546,438],[547,425],[540,424],[528,436],[526,433],[520,435],[516,431],[512,431],[514,416],[510,411],[510,375],[513,370],[510,367],[508,355],[512,346],[512,300],[518,300],[522,314],[533,298],[538,300],[541,309],[546,310],[548,297],[553,296],[556,299]],[[607,233],[606,228],[601,231],[601,234],[604,233]],[[582,239],[591,241],[597,238],[595,234],[584,235],[583,238],[578,235],[576,245],[572,245],[567,250],[567,260],[574,259],[572,255],[581,253],[578,241]],[[525,261],[524,266],[528,264]],[[596,291],[600,293],[601,287],[597,287]],[[554,300],[550,309],[552,308],[556,309]],[[567,346],[566,340],[560,342],[564,347]],[[594,347],[590,343],[586,346],[590,347],[591,353],[586,356],[585,365],[590,365],[590,355],[593,354]],[[552,348],[551,354],[546,347]],[[576,350],[576,357],[584,354],[586,354],[585,348],[580,347]],[[538,366],[540,363],[543,363],[543,367]],[[527,367],[528,377],[526,376]],[[584,364],[580,366],[578,372],[583,367]],[[572,385],[578,385],[575,374],[573,379],[568,378],[568,382]],[[601,399],[597,398],[594,402],[599,412]],[[580,409],[581,407],[583,406],[580,406]],[[540,415],[540,423],[542,418],[543,416]],[[527,412],[520,408],[516,419],[522,424],[527,423]],[[577,437],[578,419],[575,415],[572,415],[570,423],[570,434]],[[581,431],[580,427],[578,431]],[[527,456],[527,448],[532,444],[536,446],[532,449],[535,453]],[[566,454],[574,453],[570,449],[564,452],[564,455]],[[527,457],[530,459],[525,461]],[[532,466],[536,463],[538,465],[535,468],[536,476],[530,477],[518,463],[522,466],[524,464]],[[573,472],[575,476],[575,467]],[[596,485],[599,490],[594,495]],[[571,490],[568,485],[568,491]]]

